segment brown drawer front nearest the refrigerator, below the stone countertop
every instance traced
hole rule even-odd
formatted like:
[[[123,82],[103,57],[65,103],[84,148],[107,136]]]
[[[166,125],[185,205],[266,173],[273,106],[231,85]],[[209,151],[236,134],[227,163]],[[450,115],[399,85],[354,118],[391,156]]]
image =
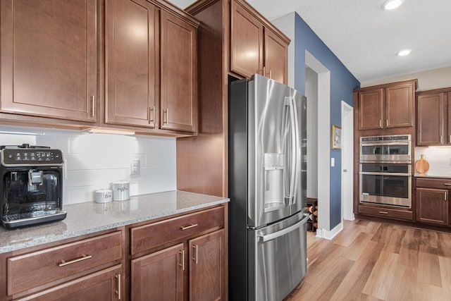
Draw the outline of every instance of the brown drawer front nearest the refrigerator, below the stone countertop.
[[[215,227],[224,227],[222,206],[135,227],[131,229],[130,252],[137,254]]]

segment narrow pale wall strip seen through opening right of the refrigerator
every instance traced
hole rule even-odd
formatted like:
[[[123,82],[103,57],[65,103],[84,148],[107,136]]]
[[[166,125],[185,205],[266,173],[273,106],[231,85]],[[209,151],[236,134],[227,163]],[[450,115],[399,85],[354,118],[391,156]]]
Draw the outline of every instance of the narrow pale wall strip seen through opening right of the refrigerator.
[[[307,97],[307,197],[318,198],[318,73],[305,68]]]

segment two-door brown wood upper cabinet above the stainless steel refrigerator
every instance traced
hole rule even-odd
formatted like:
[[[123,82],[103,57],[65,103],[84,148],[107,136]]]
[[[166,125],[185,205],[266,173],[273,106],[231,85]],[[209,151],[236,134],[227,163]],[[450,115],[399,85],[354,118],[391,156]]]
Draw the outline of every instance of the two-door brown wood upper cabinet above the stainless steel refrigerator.
[[[261,75],[287,83],[290,39],[245,1],[231,1],[230,70],[250,78]]]

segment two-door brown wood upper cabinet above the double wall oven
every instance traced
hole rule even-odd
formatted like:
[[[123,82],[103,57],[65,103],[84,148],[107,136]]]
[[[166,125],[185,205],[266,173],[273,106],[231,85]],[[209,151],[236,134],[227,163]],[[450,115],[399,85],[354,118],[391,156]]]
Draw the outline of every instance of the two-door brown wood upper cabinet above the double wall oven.
[[[357,89],[359,130],[414,125],[416,80]]]

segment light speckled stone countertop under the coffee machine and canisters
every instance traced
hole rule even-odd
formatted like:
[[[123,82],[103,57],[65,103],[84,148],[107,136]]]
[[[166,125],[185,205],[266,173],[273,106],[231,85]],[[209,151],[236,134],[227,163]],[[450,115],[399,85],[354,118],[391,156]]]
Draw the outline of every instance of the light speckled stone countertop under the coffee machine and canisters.
[[[230,199],[184,191],[168,191],[130,197],[128,201],[63,206],[63,221],[6,230],[0,226],[0,254],[120,226],[151,221],[194,209],[229,202]]]

